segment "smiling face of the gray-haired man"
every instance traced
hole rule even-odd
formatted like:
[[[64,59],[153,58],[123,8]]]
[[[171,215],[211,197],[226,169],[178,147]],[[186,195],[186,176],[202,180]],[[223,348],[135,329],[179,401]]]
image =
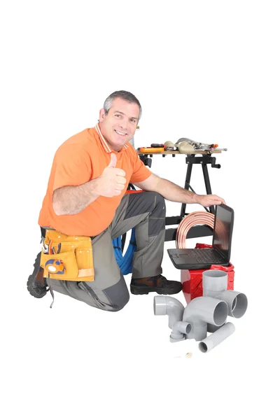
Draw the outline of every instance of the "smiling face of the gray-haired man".
[[[113,100],[109,113],[99,112],[99,127],[113,151],[119,151],[134,136],[139,120],[139,106],[121,98]]]

